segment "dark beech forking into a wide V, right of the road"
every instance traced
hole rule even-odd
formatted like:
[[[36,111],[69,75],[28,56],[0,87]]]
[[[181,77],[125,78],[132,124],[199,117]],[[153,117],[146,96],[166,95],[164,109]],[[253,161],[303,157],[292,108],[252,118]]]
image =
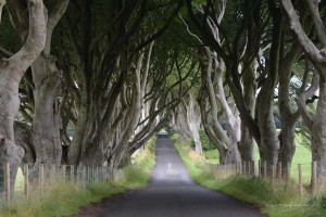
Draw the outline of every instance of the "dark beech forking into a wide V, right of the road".
[[[192,1],[187,1],[187,8],[189,16],[196,26],[198,36],[204,46],[208,46],[214,50],[224,61],[226,65],[226,78],[237,107],[240,112],[241,122],[248,127],[250,135],[255,139],[260,149],[261,159],[267,162],[268,171],[272,174],[271,171],[273,165],[276,165],[279,152],[279,142],[275,127],[273,106],[274,89],[278,82],[278,63],[280,38],[283,33],[280,9],[274,1],[266,1],[264,4],[263,1],[259,1],[253,4],[251,1],[230,3],[226,1],[213,2],[208,0],[205,1],[205,4],[203,4],[201,12],[198,12],[193,10],[191,2]],[[246,3],[248,5],[250,5],[249,3],[254,5],[252,9],[255,9],[255,12],[253,13],[254,10],[240,11],[237,8],[238,4],[243,5]],[[218,17],[220,14],[223,14],[223,11],[221,11],[221,5],[228,4],[230,8],[226,7],[227,10],[230,9],[234,11],[228,11],[228,13],[226,13],[228,16],[224,15],[222,18],[222,24],[220,25],[221,21],[218,21]],[[260,12],[264,13],[260,14]],[[252,38],[254,41],[251,41],[251,47],[248,47],[249,40],[247,40],[248,35],[246,34],[248,31],[244,30],[249,29],[249,31],[252,31],[252,27],[247,25],[248,22],[250,22],[250,18],[246,18],[248,16],[244,15],[238,16],[237,14],[239,13],[253,13],[252,16],[255,15],[261,17],[260,22],[256,23],[256,37]],[[272,23],[269,22],[269,17]],[[234,28],[231,29],[231,33],[228,33],[225,28],[223,28],[223,21],[227,22],[229,21],[228,18],[236,18],[237,21],[237,23],[233,26]],[[211,26],[208,24],[208,21],[212,22],[217,27],[220,40],[216,40],[217,38],[214,35],[216,31],[211,30]],[[266,24],[271,24],[268,25],[271,28],[266,29]],[[264,55],[266,60],[266,71],[261,76],[262,80],[260,82],[261,87],[258,93],[256,102],[256,118],[254,118],[252,116],[252,111],[247,107],[244,101],[243,88],[240,80],[242,72],[240,71],[239,66],[243,61],[243,56],[246,56],[243,55],[246,52],[248,52],[252,61],[255,56],[260,56],[259,51],[261,50],[262,36],[266,30],[269,30],[268,36],[272,36],[272,38],[264,39],[269,41],[271,46],[267,47],[268,54]],[[248,65],[246,65],[244,68],[247,66]],[[253,93],[253,91],[251,92]]]

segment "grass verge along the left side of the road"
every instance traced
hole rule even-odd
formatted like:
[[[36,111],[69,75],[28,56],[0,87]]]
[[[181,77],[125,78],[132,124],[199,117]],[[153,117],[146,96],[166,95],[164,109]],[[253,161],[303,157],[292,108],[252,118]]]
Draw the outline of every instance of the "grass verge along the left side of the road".
[[[11,206],[0,205],[0,217],[60,217],[77,214],[79,208],[100,202],[103,197],[124,193],[127,189],[139,189],[151,179],[151,168],[155,163],[155,138],[148,141],[147,148],[133,156],[135,162],[123,169],[115,182],[91,183],[80,188],[76,183],[57,181],[46,193],[33,194],[28,200],[16,195]]]

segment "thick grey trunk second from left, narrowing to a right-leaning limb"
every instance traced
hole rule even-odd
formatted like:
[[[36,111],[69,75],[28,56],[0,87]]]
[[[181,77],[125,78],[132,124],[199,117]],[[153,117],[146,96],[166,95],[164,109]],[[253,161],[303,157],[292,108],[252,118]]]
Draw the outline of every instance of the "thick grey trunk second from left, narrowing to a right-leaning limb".
[[[60,0],[47,23],[47,40],[43,53],[32,65],[35,99],[33,119],[33,143],[36,166],[40,163],[60,166],[62,145],[60,138],[60,114],[58,95],[61,72],[57,68],[57,58],[50,55],[54,27],[66,11],[70,0]],[[37,167],[36,167],[37,168]]]

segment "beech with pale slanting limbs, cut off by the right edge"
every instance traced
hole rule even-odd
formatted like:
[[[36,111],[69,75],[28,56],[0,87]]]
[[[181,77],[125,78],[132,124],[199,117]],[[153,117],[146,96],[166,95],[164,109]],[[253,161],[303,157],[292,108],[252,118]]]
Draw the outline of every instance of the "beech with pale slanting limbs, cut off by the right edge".
[[[285,12],[285,16],[288,20],[288,24],[301,44],[304,53],[309,56],[311,62],[317,69],[318,73],[318,85],[319,85],[319,99],[317,103],[317,110],[314,117],[305,115],[305,120],[312,129],[312,158],[317,162],[317,179],[322,182],[326,181],[326,59],[325,59],[325,47],[326,47],[326,27],[323,23],[319,5],[325,7],[317,0],[305,1],[308,4],[311,16],[314,24],[314,30],[317,36],[317,41],[312,41],[308,34],[304,31],[302,24],[300,23],[297,11],[290,0],[283,0],[281,7]],[[317,78],[317,77],[315,77]],[[313,89],[311,89],[313,90]],[[304,100],[304,95],[303,100]],[[306,99],[306,98],[305,98]],[[300,103],[300,101],[299,101]],[[302,104],[302,102],[301,102]],[[300,105],[299,105],[300,106]],[[303,106],[301,106],[303,107]]]

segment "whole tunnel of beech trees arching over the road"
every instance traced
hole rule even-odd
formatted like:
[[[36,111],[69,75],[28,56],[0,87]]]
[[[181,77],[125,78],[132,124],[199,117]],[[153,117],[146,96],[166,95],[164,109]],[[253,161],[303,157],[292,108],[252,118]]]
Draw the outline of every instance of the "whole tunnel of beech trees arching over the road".
[[[326,181],[325,1],[0,0],[0,22],[11,188],[22,162],[114,170],[165,126],[221,164],[256,143],[267,173],[304,133]]]

